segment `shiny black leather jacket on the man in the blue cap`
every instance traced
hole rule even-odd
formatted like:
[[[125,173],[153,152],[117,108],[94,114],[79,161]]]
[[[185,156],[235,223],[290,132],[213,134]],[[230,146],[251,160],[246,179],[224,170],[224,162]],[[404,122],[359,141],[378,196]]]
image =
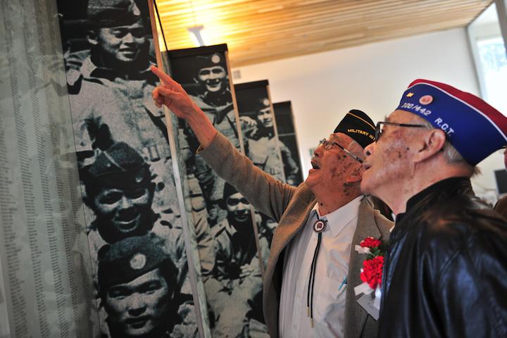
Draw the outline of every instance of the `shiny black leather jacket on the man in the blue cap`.
[[[453,177],[408,200],[385,256],[380,337],[507,337],[507,224]]]

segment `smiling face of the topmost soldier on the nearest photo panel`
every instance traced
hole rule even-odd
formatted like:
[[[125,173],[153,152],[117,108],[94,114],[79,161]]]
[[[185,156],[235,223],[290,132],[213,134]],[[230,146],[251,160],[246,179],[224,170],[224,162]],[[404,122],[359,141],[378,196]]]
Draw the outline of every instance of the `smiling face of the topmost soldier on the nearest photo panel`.
[[[146,54],[146,32],[141,21],[133,25],[100,28],[96,41],[111,60],[131,63]]]

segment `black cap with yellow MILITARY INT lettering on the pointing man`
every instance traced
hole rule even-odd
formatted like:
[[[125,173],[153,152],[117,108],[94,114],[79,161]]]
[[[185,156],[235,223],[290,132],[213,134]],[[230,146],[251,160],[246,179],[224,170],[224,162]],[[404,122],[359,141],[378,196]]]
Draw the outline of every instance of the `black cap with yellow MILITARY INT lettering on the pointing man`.
[[[363,148],[375,142],[375,123],[363,111],[352,109],[346,113],[334,132],[342,132],[354,139]]]

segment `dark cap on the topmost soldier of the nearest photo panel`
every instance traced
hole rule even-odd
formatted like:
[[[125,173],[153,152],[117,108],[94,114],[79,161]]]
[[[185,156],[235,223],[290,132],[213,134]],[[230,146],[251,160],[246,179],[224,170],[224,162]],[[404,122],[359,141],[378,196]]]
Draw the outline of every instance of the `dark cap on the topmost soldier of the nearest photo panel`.
[[[96,27],[132,25],[142,18],[134,0],[89,0],[87,16]]]

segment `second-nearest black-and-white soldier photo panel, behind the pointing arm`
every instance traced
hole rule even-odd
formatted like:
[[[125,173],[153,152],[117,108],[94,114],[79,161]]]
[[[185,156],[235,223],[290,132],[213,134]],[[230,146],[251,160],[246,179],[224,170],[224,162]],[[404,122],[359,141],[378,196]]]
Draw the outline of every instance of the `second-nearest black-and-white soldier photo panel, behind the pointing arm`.
[[[168,51],[170,75],[206,113],[215,128],[243,151],[243,123],[234,109],[227,46]],[[213,234],[215,265],[206,279],[213,337],[268,337],[262,315],[262,275],[256,236],[261,215],[195,154],[195,135],[180,121],[180,148],[188,146],[186,175],[192,195],[204,196]],[[261,242],[259,244],[262,246]],[[267,249],[268,245],[264,247]],[[263,256],[267,258],[266,256]]]

